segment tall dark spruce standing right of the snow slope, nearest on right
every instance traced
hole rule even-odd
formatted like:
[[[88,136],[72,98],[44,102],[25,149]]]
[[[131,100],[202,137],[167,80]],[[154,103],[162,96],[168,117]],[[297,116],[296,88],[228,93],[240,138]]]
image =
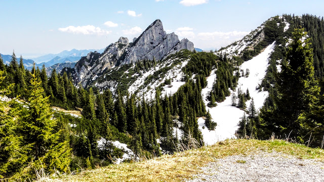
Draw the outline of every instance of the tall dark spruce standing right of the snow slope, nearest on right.
[[[319,87],[316,86],[313,67],[313,50],[310,39],[306,38],[304,29],[295,29],[292,42],[289,44],[287,58],[281,62],[281,72],[278,76],[278,93],[276,101],[277,124],[282,133],[297,136],[300,123],[298,116],[307,112],[316,101]]]

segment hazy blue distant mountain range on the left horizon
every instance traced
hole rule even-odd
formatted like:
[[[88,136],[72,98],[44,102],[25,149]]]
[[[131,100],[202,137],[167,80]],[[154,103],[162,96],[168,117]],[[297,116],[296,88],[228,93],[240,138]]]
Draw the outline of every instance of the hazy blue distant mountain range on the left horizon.
[[[104,49],[101,50],[95,50],[95,49],[90,49],[90,50],[76,50],[72,49],[71,51],[62,51],[59,54],[48,54],[36,58],[30,58],[30,59],[23,59],[23,63],[25,68],[31,69],[33,67],[33,64],[36,63],[35,65],[38,67],[42,67],[43,64],[45,67],[50,67],[55,64],[59,63],[75,63],[78,60],[81,59],[83,56],[87,56],[88,53],[90,52],[95,52],[97,51],[98,53],[102,53]],[[11,55],[3,55],[0,54],[1,57],[4,60],[4,63],[9,65],[11,62]],[[17,60],[19,62],[19,57],[17,57]]]

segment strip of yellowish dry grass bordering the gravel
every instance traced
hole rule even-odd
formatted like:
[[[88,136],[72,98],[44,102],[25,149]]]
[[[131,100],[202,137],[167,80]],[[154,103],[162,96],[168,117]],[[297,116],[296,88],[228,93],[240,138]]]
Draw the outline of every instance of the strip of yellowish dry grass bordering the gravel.
[[[165,155],[142,162],[110,165],[63,175],[54,181],[183,181],[200,172],[200,167],[230,155],[279,152],[297,158],[324,160],[324,150],[311,149],[282,140],[226,140],[213,146]]]

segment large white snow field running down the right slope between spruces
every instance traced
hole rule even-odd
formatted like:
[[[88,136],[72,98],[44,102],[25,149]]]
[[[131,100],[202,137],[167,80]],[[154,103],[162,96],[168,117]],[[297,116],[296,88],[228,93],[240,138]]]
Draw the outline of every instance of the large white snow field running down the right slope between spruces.
[[[258,56],[252,58],[249,61],[244,62],[239,69],[246,71],[247,68],[250,70],[249,77],[240,77],[238,79],[237,87],[240,87],[242,92],[246,92],[249,88],[250,96],[254,99],[255,107],[261,108],[263,106],[264,100],[267,98],[267,92],[258,92],[256,87],[261,83],[265,76],[266,69],[268,67],[269,56],[271,55],[275,42],[270,44],[264,52]],[[204,141],[206,145],[213,145],[218,141],[225,139],[235,138],[235,131],[238,129],[238,122],[240,118],[244,115],[244,111],[231,106],[231,96],[226,97],[224,102],[217,103],[214,108],[209,108],[207,106],[208,101],[206,101],[207,93],[211,91],[214,80],[216,79],[215,70],[212,71],[211,76],[207,78],[208,84],[201,92],[205,100],[206,110],[210,112],[213,120],[217,122],[216,129],[209,131],[205,126],[205,120],[203,118],[198,119],[199,129],[203,133]],[[236,94],[236,90],[230,90],[231,93]],[[251,100],[247,101],[247,107],[250,106]],[[203,126],[205,128],[203,129]]]

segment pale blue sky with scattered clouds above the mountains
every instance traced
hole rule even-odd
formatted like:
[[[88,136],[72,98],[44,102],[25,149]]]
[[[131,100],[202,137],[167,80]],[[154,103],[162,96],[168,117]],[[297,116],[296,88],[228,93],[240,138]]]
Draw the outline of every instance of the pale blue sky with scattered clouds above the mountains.
[[[218,50],[276,15],[324,16],[322,0],[0,0],[0,5],[0,53],[15,50],[24,58],[103,49],[121,36],[132,42],[156,19],[195,48]]]

